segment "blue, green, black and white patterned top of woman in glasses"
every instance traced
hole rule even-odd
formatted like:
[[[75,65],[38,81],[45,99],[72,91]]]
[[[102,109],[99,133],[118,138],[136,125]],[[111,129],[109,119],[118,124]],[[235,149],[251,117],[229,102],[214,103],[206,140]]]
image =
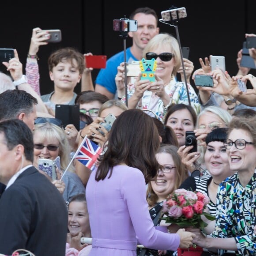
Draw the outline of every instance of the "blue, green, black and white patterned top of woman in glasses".
[[[237,255],[256,255],[256,172],[244,188],[235,173],[223,181],[216,199],[217,215],[213,237],[234,237]],[[222,255],[223,250],[220,250]]]

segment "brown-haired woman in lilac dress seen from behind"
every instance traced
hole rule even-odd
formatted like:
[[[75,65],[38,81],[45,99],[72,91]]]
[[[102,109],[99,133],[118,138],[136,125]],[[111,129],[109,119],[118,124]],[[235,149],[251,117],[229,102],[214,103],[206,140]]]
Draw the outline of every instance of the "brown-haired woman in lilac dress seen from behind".
[[[86,187],[90,256],[136,256],[137,244],[172,251],[192,245],[192,233],[154,227],[148,211],[146,184],[158,173],[159,143],[155,124],[143,111],[129,109],[115,120]]]

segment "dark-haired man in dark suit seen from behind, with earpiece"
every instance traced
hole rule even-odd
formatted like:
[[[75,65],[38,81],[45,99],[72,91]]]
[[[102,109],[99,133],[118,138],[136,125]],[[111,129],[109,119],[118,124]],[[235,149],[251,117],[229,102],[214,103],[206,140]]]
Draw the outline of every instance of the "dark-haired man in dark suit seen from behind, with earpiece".
[[[21,120],[0,122],[0,253],[26,249],[64,256],[68,211],[56,187],[32,166],[33,135]]]

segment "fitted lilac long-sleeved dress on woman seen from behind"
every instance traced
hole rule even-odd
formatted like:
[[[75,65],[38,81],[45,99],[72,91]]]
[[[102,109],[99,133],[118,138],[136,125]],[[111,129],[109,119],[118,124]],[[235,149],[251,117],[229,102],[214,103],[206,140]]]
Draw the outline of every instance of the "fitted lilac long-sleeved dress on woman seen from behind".
[[[95,181],[96,170],[86,187],[92,234],[90,256],[136,256],[136,245],[176,251],[177,234],[154,227],[146,200],[143,173],[128,166],[115,166],[110,178]],[[165,232],[164,232],[165,231]]]

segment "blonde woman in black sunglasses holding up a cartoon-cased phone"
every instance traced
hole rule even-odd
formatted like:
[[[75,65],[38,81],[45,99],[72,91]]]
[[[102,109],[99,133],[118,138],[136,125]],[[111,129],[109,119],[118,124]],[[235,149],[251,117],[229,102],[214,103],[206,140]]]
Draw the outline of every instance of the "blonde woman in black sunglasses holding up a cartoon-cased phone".
[[[129,84],[127,88],[128,108],[150,109],[163,121],[166,110],[171,104],[184,103],[191,104],[200,112],[200,104],[195,90],[188,84],[188,92],[185,83],[178,82],[177,72],[181,72],[181,55],[179,44],[176,38],[170,34],[158,34],[152,38],[143,50],[145,60],[155,60],[156,68],[148,66],[151,70],[149,76],[154,75],[155,81],[141,79],[143,75],[139,74],[134,84]],[[191,71],[190,62],[184,63],[185,72]],[[147,70],[148,70],[147,69]],[[124,83],[124,68],[118,67],[116,76],[117,88],[122,88]],[[190,75],[188,75],[190,77]],[[189,82],[189,81],[187,81]],[[124,86],[123,86],[124,88]],[[118,95],[124,95],[124,89],[120,89]],[[189,95],[189,98],[188,98]],[[125,101],[125,96],[122,98]],[[152,115],[150,112],[149,115]]]

